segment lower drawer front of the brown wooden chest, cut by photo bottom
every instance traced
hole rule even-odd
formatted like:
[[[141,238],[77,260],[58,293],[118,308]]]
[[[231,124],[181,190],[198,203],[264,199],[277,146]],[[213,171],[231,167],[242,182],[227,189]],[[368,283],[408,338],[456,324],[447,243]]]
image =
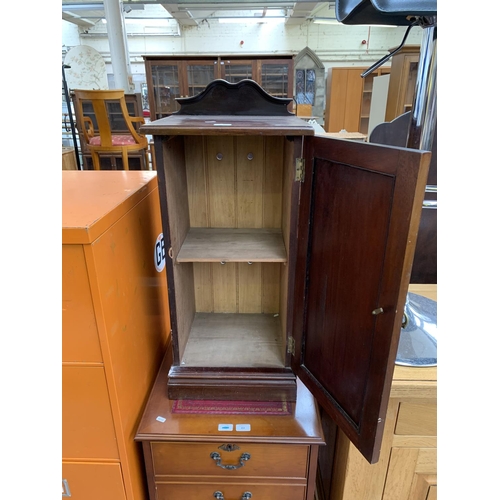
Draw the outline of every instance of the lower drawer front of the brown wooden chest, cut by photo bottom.
[[[220,492],[222,500],[241,500],[242,498],[251,498],[252,500],[304,500],[306,488],[305,486],[288,485],[288,484],[251,484],[240,483],[225,485],[223,481],[220,483],[196,483],[196,484],[156,484],[156,500],[172,500],[174,498],[182,498],[182,500],[213,500],[217,498],[214,495]],[[244,496],[245,493],[250,493],[250,496]]]

